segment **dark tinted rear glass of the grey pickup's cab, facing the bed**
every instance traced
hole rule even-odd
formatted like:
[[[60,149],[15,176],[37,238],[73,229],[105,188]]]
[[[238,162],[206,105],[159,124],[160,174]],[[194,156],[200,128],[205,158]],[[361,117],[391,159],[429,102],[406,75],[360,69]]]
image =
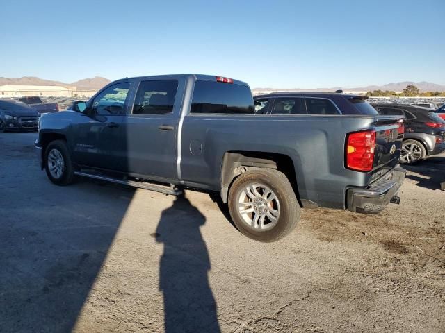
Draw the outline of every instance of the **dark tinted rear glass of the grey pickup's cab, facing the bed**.
[[[197,81],[190,112],[211,114],[254,114],[252,92],[245,85]]]

